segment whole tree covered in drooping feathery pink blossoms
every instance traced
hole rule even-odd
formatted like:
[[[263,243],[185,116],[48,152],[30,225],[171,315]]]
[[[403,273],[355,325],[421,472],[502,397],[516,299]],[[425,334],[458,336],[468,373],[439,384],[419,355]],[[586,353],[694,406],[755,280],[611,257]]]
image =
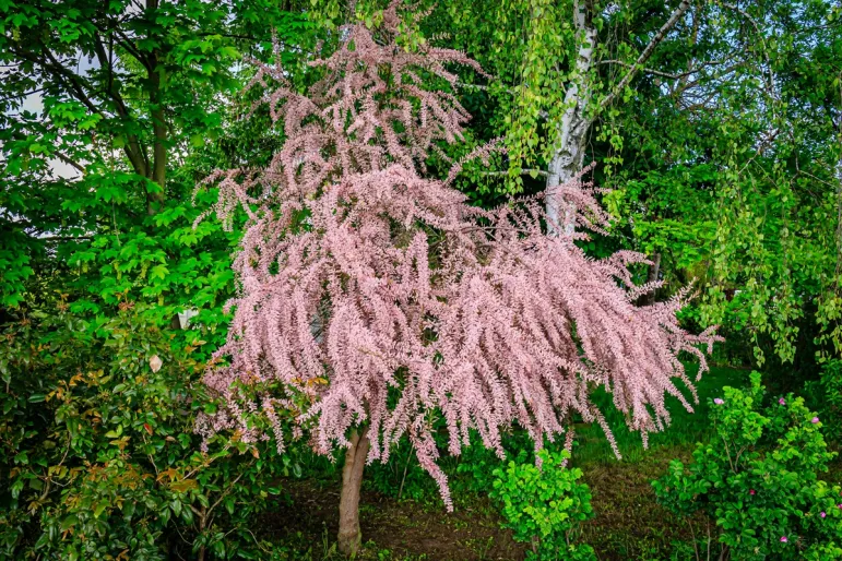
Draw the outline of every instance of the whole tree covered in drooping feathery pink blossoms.
[[[502,457],[513,423],[535,442],[565,434],[572,414],[598,422],[589,394],[612,392],[630,428],[643,434],[669,421],[665,394],[692,391],[680,351],[716,338],[678,325],[681,297],[651,306],[636,299],[628,265],[642,255],[586,256],[574,243],[604,231],[608,216],[580,181],[550,191],[576,207],[577,230],[546,235],[544,202],[494,212],[467,204],[425,162],[444,158],[470,116],[450,91],[452,64],[482,73],[465,55],[395,44],[396,3],[375,32],[352,25],[323,77],[296,93],[280,65],[258,64],[250,87],[266,92],[285,142],[264,169],[217,171],[217,216],[230,227],[248,215],[234,262],[239,291],[227,343],[205,382],[227,407],[200,419],[206,437],[238,431],[278,450],[309,434],[315,451],[345,450],[339,546],[360,544],[358,502],[367,463],[387,462],[406,435],[419,464],[452,502],[437,464],[435,418],[459,454],[476,430]],[[448,92],[428,86],[450,84]],[[270,85],[270,83],[272,85]],[[493,147],[475,155],[487,157]],[[693,394],[695,395],[695,394]],[[268,423],[256,421],[265,419]]]

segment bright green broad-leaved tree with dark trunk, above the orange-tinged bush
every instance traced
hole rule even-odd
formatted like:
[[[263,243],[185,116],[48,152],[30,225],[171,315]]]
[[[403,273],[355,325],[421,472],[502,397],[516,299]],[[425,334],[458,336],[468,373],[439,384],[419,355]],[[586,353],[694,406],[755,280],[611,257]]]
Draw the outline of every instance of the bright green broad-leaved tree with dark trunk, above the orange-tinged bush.
[[[24,298],[25,273],[59,267],[78,275],[76,309],[130,291],[166,320],[210,311],[228,290],[229,240],[189,228],[188,193],[207,169],[195,166],[209,165],[192,154],[227,157],[204,143],[241,84],[236,62],[270,45],[272,26],[292,52],[301,16],[261,2],[79,1],[7,2],[2,19],[0,251],[28,267],[4,273],[4,306]]]

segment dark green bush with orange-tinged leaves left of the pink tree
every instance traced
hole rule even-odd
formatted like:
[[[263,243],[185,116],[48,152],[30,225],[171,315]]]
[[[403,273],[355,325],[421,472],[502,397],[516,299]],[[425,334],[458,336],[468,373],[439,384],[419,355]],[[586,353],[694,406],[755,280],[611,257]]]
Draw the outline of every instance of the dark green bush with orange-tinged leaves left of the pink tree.
[[[141,306],[120,308],[4,330],[0,558],[263,557],[250,525],[289,456],[236,437],[199,452],[195,414],[215,407],[203,342],[179,346]]]

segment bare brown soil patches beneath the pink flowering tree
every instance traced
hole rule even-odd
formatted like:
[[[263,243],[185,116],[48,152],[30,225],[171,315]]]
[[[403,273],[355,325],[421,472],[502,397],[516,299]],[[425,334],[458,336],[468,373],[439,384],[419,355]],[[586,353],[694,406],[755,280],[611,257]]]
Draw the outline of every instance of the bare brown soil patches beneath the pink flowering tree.
[[[582,530],[601,561],[663,560],[674,540],[691,539],[684,520],[675,518],[655,501],[652,479],[671,459],[687,461],[688,450],[662,449],[642,462],[605,462],[583,466],[596,516]],[[839,461],[838,461],[839,462]],[[840,479],[842,465],[830,478]],[[290,559],[342,559],[335,552],[339,518],[339,481],[285,480],[287,493],[260,521],[261,534],[276,544],[296,548]],[[360,524],[365,549],[360,560],[520,561],[525,545],[500,529],[495,505],[484,497],[460,498],[449,514],[440,501],[396,501],[375,491],[363,491]],[[695,521],[699,536],[707,522]]]

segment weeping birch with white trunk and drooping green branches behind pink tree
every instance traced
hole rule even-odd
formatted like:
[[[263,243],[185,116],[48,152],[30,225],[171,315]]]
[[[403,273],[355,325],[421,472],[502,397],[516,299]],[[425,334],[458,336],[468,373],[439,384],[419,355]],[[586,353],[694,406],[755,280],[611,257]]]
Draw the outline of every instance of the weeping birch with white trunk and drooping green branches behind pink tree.
[[[739,360],[797,361],[809,377],[839,345],[839,13],[830,1],[452,2],[419,33],[452,34],[494,75],[472,95],[507,135],[513,183],[475,176],[466,189],[534,192],[562,164],[597,162],[621,218],[621,237],[597,246],[649,254],[638,274],[667,280],[661,298],[699,278],[692,321],[728,324],[731,348],[754,349]]]

